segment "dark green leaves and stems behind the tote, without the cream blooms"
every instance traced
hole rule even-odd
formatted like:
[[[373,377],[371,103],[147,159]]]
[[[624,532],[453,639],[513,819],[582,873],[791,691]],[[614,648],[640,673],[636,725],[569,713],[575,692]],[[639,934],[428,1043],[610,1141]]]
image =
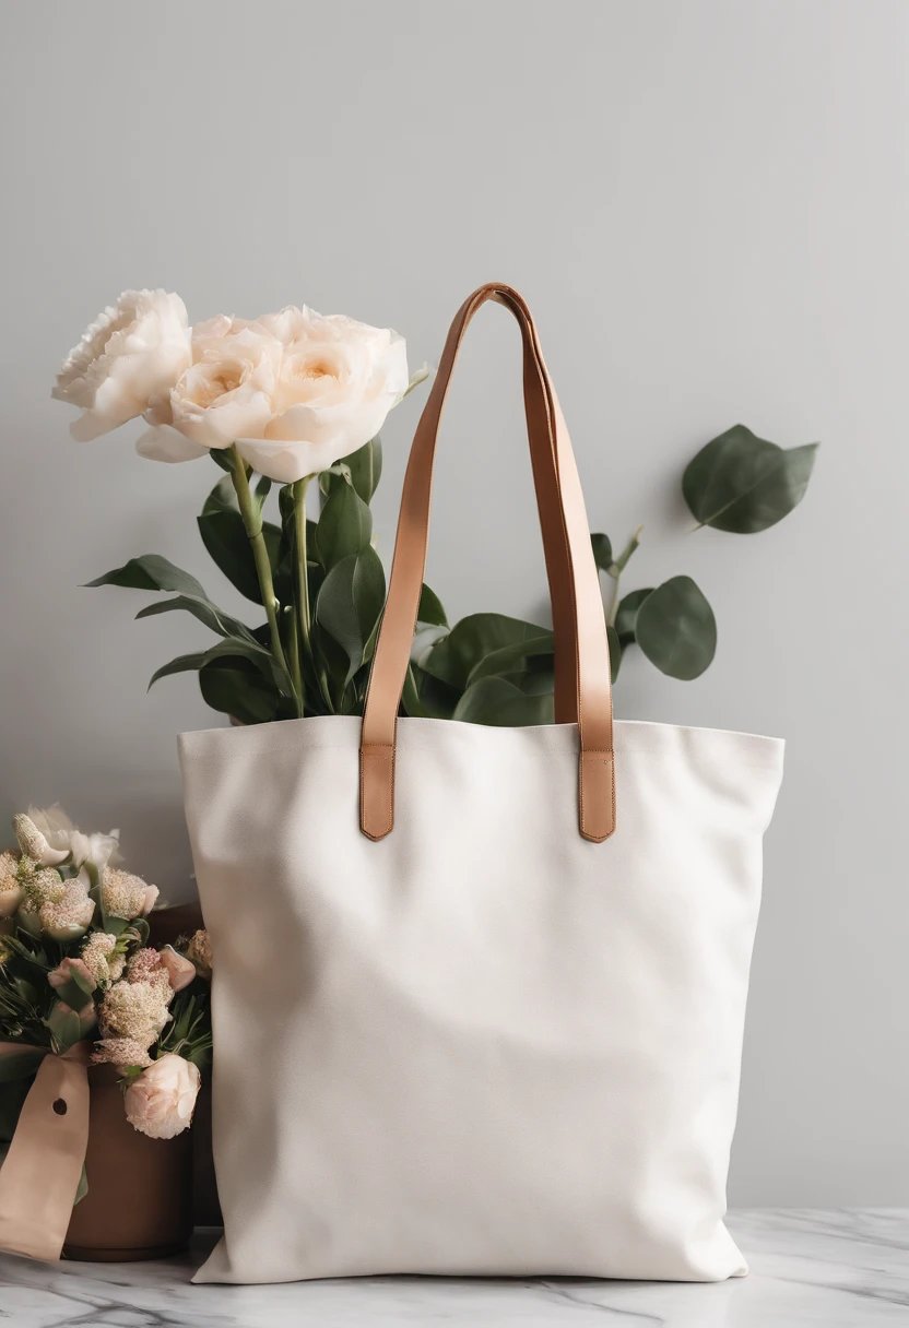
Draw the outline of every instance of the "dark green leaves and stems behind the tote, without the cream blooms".
[[[684,470],[682,491],[702,526],[755,534],[781,521],[805,493],[817,444],[784,450],[744,425],[708,442]],[[243,724],[302,714],[357,714],[385,599],[385,574],[372,547],[369,502],[381,477],[373,438],[319,477],[322,510],[306,513],[310,479],[278,491],[278,521],[266,519],[272,489],[235,448],[213,452],[227,471],[198,518],[202,540],[227,580],[264,611],[250,627],[219,608],[189,572],[145,554],[90,582],[170,592],[137,618],[187,612],[218,640],[163,664],[153,683],[197,672],[206,703]],[[593,534],[597,567],[611,582],[605,608],[613,677],[638,645],[660,672],[690,680],[716,651],[716,620],[687,575],[619,594],[641,542],[638,527],[619,554]],[[472,724],[548,724],[553,718],[553,635],[502,614],[472,614],[449,627],[424,586],[401,704],[412,716]]]

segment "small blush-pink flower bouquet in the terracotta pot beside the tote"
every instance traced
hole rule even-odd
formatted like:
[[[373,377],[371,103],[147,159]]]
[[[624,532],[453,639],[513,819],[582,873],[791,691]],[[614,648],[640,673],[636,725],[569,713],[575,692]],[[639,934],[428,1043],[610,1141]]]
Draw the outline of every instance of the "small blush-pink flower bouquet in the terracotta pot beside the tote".
[[[211,1053],[207,934],[148,944],[158,891],[121,866],[117,831],[82,834],[60,807],[29,807],[13,829],[0,854],[0,1149],[44,1056],[78,1042],[117,1068],[134,1129],[173,1138]]]

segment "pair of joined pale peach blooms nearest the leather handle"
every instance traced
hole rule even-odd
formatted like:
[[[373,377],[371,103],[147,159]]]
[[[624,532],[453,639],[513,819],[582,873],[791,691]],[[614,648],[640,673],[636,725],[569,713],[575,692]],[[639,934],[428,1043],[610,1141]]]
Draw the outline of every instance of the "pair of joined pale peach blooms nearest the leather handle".
[[[407,344],[391,328],[292,305],[254,321],[221,316],[193,329],[193,364],[169,408],[146,412],[153,428],[137,446],[189,461],[237,442],[255,470],[291,483],[373,438],[423,377],[409,382]]]

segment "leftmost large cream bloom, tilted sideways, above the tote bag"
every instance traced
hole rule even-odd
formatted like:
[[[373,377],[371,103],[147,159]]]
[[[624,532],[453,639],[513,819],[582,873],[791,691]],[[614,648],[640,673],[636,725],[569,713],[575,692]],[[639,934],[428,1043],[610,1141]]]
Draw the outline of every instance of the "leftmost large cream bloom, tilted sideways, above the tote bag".
[[[85,412],[70,433],[86,442],[148,410],[189,364],[189,320],[181,297],[169,291],[124,291],[69,352],[50,394]]]

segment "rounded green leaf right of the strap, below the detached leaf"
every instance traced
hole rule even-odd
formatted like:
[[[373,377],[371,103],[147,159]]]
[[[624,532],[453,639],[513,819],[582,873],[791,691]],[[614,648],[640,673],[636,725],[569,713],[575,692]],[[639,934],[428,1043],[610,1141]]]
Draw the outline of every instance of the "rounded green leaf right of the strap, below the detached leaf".
[[[638,610],[635,639],[651,664],[690,681],[716,651],[716,619],[690,576],[671,576]]]

